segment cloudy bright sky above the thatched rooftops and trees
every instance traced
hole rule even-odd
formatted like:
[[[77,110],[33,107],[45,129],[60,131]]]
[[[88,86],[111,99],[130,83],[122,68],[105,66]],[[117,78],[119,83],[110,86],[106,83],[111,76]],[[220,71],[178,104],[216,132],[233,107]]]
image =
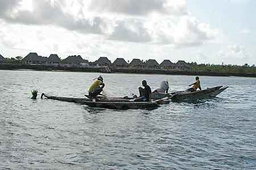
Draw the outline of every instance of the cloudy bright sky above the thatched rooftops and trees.
[[[254,0],[0,0],[0,54],[256,64]]]

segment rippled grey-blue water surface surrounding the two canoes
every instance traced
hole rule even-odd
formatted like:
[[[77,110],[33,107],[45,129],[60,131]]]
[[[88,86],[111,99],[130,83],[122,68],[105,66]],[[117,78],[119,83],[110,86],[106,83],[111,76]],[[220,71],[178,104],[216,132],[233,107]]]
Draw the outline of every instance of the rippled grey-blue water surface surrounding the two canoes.
[[[200,76],[218,97],[155,110],[30,99],[83,97],[98,73],[0,71],[0,169],[256,169],[256,78]],[[146,79],[183,90],[195,76],[102,74],[109,96]]]

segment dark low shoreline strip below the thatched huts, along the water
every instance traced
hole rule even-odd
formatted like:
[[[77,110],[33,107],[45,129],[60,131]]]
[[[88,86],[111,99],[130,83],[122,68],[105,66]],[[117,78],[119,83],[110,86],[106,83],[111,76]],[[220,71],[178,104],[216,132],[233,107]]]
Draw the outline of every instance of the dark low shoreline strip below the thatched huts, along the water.
[[[0,70],[9,71],[53,71],[53,72],[102,72],[102,68],[87,67],[54,67],[49,65],[28,65],[28,64],[0,64]],[[184,75],[184,76],[218,76],[218,77],[253,77],[256,78],[256,73],[217,73],[217,72],[191,72],[191,71],[174,71],[165,69],[147,69],[147,68],[113,68],[112,73],[129,73],[129,74],[167,74],[167,75]]]

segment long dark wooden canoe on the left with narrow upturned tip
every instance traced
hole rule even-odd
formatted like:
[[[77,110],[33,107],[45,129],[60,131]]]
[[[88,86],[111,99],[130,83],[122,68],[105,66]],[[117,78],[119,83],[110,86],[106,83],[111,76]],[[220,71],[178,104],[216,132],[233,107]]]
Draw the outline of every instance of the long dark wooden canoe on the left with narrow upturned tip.
[[[90,107],[100,107],[105,109],[117,109],[117,110],[126,110],[126,109],[156,109],[159,107],[156,102],[134,102],[129,99],[124,98],[110,98],[109,100],[100,99],[97,101],[92,101],[89,98],[69,98],[69,97],[56,97],[49,96],[47,94],[42,94],[41,98],[46,97],[48,99],[54,99],[57,101],[65,102],[74,102],[80,103],[82,105],[88,105]]]

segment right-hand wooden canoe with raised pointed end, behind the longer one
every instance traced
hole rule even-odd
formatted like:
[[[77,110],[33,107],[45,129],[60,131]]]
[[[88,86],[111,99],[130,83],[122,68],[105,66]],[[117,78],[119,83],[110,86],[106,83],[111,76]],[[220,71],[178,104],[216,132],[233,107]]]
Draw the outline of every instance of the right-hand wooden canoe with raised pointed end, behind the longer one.
[[[152,99],[159,99],[164,97],[169,97],[172,101],[193,101],[208,97],[216,97],[218,94],[223,92],[227,89],[228,86],[216,86],[214,88],[208,88],[196,92],[187,92],[187,91],[180,91],[180,92],[172,92],[172,93],[152,93]]]

